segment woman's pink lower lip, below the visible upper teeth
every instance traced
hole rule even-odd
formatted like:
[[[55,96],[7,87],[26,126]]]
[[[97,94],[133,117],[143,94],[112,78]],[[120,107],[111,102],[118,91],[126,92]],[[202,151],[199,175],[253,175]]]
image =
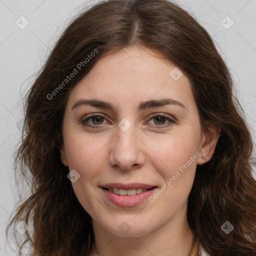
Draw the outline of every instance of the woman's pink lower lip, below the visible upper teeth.
[[[157,187],[154,187],[150,190],[143,191],[139,194],[134,195],[118,195],[115,193],[112,193],[102,187],[100,189],[105,194],[106,198],[113,204],[117,206],[135,206],[143,202],[146,198],[148,198],[156,189]]]

